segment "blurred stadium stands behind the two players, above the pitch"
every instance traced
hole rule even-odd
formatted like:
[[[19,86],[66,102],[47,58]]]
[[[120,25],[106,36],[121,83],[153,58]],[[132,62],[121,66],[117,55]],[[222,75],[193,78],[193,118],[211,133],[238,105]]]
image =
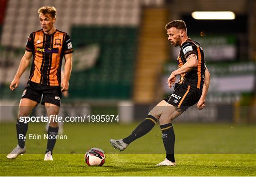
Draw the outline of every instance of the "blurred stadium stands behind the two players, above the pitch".
[[[165,24],[183,19],[188,36],[204,48],[211,80],[207,107],[192,107],[176,121],[256,122],[255,0],[0,0],[1,106],[17,106],[26,86],[29,69],[18,89],[9,90],[27,36],[40,29],[41,6],[55,6],[55,27],[73,43],[69,96],[62,105],[88,106],[97,114],[111,110],[124,122],[145,118],[172,92],[166,80],[179,48],[167,41]],[[194,19],[193,11],[232,11],[235,19]],[[1,121],[14,117],[2,113]]]

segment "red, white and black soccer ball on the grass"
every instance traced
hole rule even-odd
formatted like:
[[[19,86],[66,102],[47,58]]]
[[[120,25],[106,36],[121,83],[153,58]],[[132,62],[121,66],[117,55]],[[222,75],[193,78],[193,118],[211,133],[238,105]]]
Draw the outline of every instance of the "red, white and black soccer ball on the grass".
[[[88,166],[102,166],[105,163],[104,151],[99,148],[91,148],[84,155],[84,160]]]

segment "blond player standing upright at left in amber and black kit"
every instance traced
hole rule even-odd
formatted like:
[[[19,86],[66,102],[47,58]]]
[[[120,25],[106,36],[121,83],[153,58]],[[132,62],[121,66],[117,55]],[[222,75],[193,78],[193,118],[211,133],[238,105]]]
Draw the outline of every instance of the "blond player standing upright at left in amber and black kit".
[[[26,51],[22,57],[18,71],[14,76],[10,90],[15,90],[19,84],[19,78],[27,69],[31,57],[32,66],[25,88],[19,103],[18,120],[16,124],[18,144],[7,155],[8,159],[15,159],[19,154],[26,152],[25,135],[27,124],[20,121],[20,117],[28,116],[31,110],[41,104],[45,105],[47,115],[57,115],[60,109],[62,93],[68,90],[69,78],[72,69],[73,47],[67,33],[55,28],[55,7],[41,7],[38,10],[39,21],[42,29],[31,33],[27,39]],[[64,77],[61,78],[62,59],[65,59]],[[42,99],[41,99],[42,97]],[[58,123],[49,123],[48,135],[58,134]],[[48,139],[45,160],[53,160],[52,154],[56,139]]]

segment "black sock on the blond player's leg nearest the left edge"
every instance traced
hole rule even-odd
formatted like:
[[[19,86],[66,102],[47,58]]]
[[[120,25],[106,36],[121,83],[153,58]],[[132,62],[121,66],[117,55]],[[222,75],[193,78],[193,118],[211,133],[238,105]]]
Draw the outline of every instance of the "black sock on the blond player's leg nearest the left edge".
[[[25,136],[27,134],[27,124],[24,124],[24,122],[20,122],[17,120],[16,122],[16,132],[17,132],[17,139],[18,139],[18,145],[21,148],[24,148],[25,146]]]

